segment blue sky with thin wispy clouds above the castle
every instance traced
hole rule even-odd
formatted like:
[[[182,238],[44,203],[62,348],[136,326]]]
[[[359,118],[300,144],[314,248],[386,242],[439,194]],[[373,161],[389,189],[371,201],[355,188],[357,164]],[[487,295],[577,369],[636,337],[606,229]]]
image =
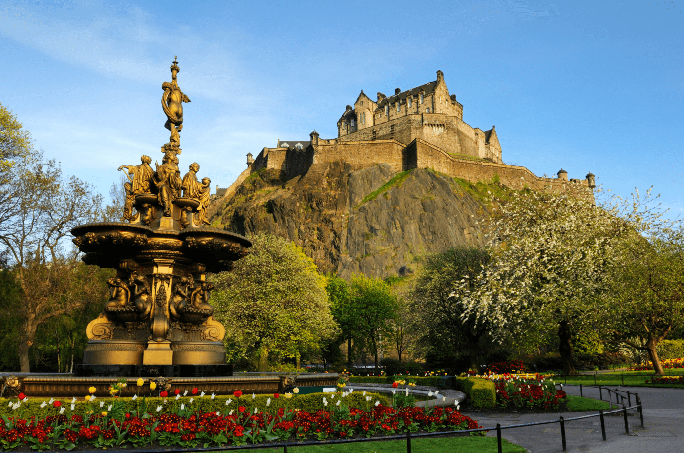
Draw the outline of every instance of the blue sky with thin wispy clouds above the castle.
[[[588,171],[684,213],[684,1],[0,1],[0,102],[103,194],[161,160],[161,83],[178,55],[181,167],[228,187],[276,139],[337,135],[360,90],[445,73],[503,160]]]

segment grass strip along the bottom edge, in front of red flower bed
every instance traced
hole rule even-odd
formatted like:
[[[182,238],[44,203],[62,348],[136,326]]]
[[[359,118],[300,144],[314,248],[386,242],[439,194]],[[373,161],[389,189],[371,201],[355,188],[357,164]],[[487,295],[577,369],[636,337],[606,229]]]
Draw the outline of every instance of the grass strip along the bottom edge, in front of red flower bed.
[[[506,439],[501,441],[504,453],[525,453],[527,450],[520,445],[510,443]],[[282,448],[264,449],[271,453],[280,453]],[[288,451],[293,453],[406,453],[406,441],[337,443],[333,445],[289,445]],[[263,450],[262,450],[263,451]],[[496,453],[496,437],[444,437],[441,439],[411,439],[413,453]],[[214,452],[221,453],[221,452]]]

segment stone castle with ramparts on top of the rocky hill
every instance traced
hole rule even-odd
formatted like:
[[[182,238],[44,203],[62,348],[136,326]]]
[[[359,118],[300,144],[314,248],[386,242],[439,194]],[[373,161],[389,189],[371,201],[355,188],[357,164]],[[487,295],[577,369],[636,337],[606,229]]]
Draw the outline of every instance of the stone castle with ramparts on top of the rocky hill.
[[[525,167],[501,160],[501,144],[494,126],[489,131],[463,121],[463,105],[449,94],[442,71],[437,80],[392,96],[378,92],[376,100],[363,90],[347,105],[337,121],[337,138],[280,140],[275,148],[263,148],[256,159],[247,154],[247,169],[228,189],[218,189],[216,202],[229,197],[247,176],[260,169],[282,171],[285,180],[321,169],[332,161],[352,167],[389,163],[395,171],[430,168],[472,182],[498,178],[511,189],[532,187],[562,191],[567,184],[593,189],[594,175],[570,179],[561,169],[557,178],[540,177]]]

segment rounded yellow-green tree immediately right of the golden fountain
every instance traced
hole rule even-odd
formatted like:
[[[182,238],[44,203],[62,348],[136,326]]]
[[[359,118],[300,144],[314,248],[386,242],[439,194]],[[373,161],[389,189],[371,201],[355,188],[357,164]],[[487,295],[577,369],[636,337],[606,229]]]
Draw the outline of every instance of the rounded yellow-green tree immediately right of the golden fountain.
[[[299,361],[302,351],[332,337],[337,325],[326,279],[300,247],[268,234],[250,240],[250,254],[231,272],[211,276],[212,304],[226,327],[228,359],[258,354],[259,371],[267,371],[269,354]]]

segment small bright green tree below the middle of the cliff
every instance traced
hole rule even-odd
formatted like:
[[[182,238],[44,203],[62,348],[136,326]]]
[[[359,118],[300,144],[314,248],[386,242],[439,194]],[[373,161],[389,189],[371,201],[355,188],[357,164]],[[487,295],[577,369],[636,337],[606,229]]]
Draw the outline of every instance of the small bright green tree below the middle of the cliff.
[[[386,334],[389,322],[396,316],[397,299],[389,284],[364,275],[352,276],[350,293],[349,302],[343,308],[345,316],[357,335],[369,342],[378,368],[378,342]]]

